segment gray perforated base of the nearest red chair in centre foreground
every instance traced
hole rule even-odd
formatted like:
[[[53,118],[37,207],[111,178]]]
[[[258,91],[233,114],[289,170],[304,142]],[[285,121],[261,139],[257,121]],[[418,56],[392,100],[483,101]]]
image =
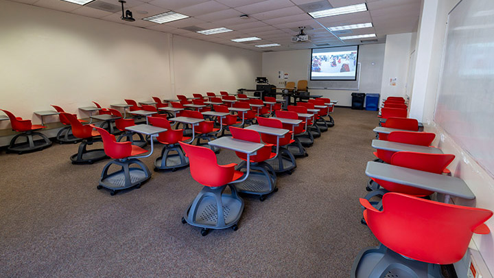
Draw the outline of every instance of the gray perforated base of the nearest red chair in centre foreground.
[[[224,194],[226,186],[231,194]],[[233,185],[220,187],[204,186],[198,196],[185,211],[182,223],[201,227],[201,235],[207,235],[210,229],[232,228],[237,231],[237,222],[244,211],[244,200],[237,194]]]

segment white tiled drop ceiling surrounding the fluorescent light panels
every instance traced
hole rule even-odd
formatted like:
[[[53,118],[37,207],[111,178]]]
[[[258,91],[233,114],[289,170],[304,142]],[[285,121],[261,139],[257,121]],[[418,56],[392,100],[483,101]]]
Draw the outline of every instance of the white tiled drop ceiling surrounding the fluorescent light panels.
[[[344,43],[342,43],[320,24],[325,27],[333,27],[372,22],[374,27],[346,30],[345,34],[341,34],[341,36],[375,33],[377,34],[377,41],[384,42],[388,34],[416,30],[421,8],[421,0],[327,0],[333,8],[365,2],[367,3],[368,11],[320,18],[317,19],[319,24],[307,12],[304,12],[299,5],[321,0],[126,0],[125,9],[131,10],[136,19],[134,22],[128,22],[120,19],[121,10],[107,12],[87,6],[95,2],[121,5],[117,0],[95,0],[84,6],[62,0],[12,1],[255,51],[282,51],[329,45],[362,44],[361,39],[344,40]],[[168,12],[169,10],[191,17],[164,24],[142,20],[144,17]],[[248,19],[240,19],[239,16],[242,14],[248,14]],[[292,36],[298,33],[296,31],[298,26],[307,27],[306,33],[311,36],[310,43],[291,42]],[[234,31],[203,35],[183,29],[188,27],[202,29],[226,27]],[[246,43],[231,41],[233,38],[250,36],[257,36],[262,40]],[[362,40],[371,40],[370,42],[375,43],[375,39],[366,38]],[[281,46],[267,48],[254,46],[268,43],[279,43]]]

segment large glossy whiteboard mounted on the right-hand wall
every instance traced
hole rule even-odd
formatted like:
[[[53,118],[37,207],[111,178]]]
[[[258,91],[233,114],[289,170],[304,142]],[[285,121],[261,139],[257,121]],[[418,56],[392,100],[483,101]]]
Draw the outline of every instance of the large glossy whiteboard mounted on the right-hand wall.
[[[434,121],[494,177],[494,1],[460,1],[446,32]]]

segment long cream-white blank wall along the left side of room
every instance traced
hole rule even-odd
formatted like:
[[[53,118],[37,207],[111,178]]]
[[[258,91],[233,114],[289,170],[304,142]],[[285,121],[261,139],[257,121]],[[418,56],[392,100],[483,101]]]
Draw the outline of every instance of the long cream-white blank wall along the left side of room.
[[[0,0],[0,34],[0,108],[34,124],[33,112],[50,104],[89,117],[78,107],[93,100],[110,106],[171,98],[174,90],[235,92],[261,74],[256,51],[10,1]],[[8,130],[10,122],[0,121],[0,132]]]

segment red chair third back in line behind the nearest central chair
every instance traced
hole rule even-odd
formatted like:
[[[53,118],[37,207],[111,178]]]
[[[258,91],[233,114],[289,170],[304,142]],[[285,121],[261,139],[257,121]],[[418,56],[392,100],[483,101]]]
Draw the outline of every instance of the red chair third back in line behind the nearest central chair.
[[[257,124],[259,126],[268,126],[270,128],[283,128],[283,124],[279,119],[263,118],[257,117]],[[271,159],[266,161],[273,167],[276,173],[288,173],[292,174],[296,168],[296,161],[293,154],[287,149],[287,146],[294,142],[292,139],[292,131],[287,132],[285,137],[279,138],[274,135],[268,135],[266,133],[261,133],[261,138],[264,143],[270,143],[273,148],[278,146],[279,152],[276,159]]]

